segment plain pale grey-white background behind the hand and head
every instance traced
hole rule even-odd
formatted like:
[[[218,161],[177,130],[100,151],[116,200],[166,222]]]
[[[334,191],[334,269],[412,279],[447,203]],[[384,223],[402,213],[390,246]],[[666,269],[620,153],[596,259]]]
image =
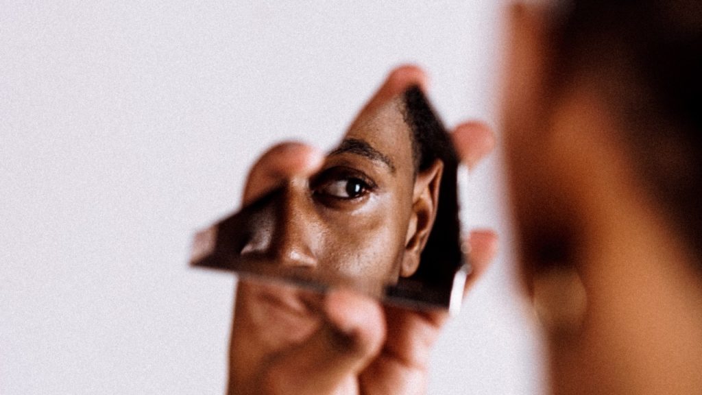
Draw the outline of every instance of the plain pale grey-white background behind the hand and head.
[[[1,394],[223,394],[234,279],[187,267],[192,234],[271,143],[331,147],[392,67],[498,129],[502,2],[376,3],[0,1]],[[501,254],[430,394],[545,387],[502,172],[465,180]]]

